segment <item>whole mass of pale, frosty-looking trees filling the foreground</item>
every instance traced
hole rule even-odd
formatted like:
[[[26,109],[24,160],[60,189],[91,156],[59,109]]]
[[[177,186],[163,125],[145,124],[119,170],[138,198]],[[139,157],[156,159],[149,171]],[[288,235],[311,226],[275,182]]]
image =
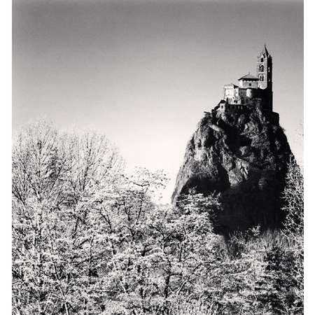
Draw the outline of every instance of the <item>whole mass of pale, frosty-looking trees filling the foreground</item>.
[[[23,130],[13,147],[13,314],[302,314],[294,161],[283,231],[223,239],[213,232],[221,196],[156,204],[166,180],[127,176],[97,134]]]

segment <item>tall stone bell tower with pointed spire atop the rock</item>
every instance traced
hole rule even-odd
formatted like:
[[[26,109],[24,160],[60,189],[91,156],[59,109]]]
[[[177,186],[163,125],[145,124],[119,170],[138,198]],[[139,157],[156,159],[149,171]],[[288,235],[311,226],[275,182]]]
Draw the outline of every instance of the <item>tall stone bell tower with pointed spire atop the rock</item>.
[[[258,88],[263,91],[265,109],[272,111],[272,56],[266,45],[258,55],[257,59]]]

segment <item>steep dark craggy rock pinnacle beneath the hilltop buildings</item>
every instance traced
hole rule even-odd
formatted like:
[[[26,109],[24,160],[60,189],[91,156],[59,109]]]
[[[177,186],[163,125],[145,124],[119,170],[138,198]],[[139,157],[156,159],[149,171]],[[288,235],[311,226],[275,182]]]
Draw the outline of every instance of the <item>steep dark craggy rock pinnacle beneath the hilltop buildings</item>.
[[[277,113],[212,111],[188,141],[172,202],[193,190],[221,193],[217,232],[281,225],[281,193],[291,155]]]

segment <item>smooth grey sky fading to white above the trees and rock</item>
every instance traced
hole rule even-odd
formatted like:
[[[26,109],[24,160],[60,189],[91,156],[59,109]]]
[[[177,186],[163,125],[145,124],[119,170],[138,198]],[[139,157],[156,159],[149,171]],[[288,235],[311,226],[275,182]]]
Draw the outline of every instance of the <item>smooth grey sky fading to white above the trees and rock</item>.
[[[45,116],[104,132],[129,167],[169,172],[169,201],[203,111],[255,73],[264,43],[302,162],[302,0],[13,0],[13,130]]]

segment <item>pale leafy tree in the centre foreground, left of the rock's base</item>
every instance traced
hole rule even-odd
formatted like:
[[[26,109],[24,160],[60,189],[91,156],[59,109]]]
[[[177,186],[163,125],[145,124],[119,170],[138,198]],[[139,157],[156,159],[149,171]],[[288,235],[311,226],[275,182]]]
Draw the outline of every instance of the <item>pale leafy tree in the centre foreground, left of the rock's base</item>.
[[[92,201],[102,230],[99,246],[107,258],[99,269],[106,300],[130,314],[167,314],[175,300],[199,299],[216,259],[218,237],[207,211],[151,201],[151,193],[164,181],[163,174],[142,170]],[[211,197],[195,198],[208,209],[218,205]]]

